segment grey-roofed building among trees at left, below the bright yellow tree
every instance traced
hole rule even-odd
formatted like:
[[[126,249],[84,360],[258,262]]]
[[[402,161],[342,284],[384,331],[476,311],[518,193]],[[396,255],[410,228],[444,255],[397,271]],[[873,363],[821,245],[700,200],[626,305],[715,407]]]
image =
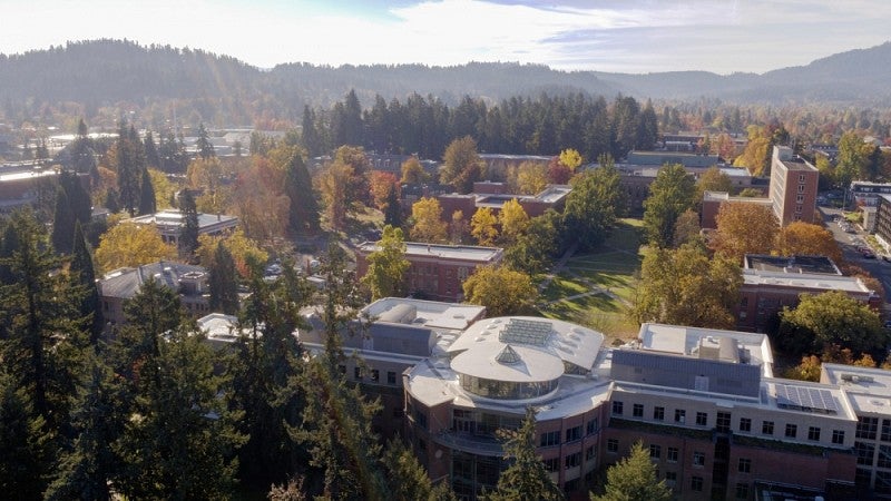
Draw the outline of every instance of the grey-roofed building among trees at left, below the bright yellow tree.
[[[161,261],[135,268],[118,268],[99,281],[102,317],[109,328],[126,323],[124,305],[150,279],[176,291],[190,315],[199,317],[210,313],[207,271],[202,266]]]

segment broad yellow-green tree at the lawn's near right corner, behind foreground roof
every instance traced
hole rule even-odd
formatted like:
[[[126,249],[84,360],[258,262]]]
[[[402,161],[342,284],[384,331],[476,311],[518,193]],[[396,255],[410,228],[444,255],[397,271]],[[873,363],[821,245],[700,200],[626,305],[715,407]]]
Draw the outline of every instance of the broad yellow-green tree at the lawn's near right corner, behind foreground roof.
[[[737,262],[695,244],[644,256],[634,313],[639,322],[732,328],[743,278]]]

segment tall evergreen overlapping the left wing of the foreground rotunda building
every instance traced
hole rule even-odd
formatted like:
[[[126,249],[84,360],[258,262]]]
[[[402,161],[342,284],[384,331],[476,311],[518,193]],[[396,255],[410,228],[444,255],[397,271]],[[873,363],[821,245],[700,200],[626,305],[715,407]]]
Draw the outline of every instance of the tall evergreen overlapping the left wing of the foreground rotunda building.
[[[364,302],[346,268],[344,252],[336,245],[329,247],[322,274],[326,284],[322,305],[325,348],[306,364],[301,381],[304,391],[315,397],[306,402],[303,426],[294,434],[310,445],[310,464],[324,472],[322,495],[383,501],[389,498],[385,472],[371,430],[380,405],[369,402],[340,370],[345,360],[341,333],[361,335],[355,320]]]

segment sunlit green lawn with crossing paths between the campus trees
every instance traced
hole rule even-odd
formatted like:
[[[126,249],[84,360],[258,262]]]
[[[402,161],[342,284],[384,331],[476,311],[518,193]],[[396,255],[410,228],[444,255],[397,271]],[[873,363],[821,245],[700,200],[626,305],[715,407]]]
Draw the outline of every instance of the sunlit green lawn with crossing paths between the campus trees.
[[[633,337],[627,312],[634,298],[643,235],[639,219],[623,219],[600,247],[572,256],[541,294],[540,313],[603,332],[608,342]]]

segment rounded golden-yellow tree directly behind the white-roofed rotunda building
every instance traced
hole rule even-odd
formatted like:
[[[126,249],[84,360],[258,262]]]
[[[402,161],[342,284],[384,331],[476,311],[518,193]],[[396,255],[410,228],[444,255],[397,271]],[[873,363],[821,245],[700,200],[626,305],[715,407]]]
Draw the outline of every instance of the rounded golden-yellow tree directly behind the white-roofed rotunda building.
[[[507,267],[483,266],[463,283],[464,301],[486,306],[490,316],[520,315],[532,310],[538,289],[529,275]]]

